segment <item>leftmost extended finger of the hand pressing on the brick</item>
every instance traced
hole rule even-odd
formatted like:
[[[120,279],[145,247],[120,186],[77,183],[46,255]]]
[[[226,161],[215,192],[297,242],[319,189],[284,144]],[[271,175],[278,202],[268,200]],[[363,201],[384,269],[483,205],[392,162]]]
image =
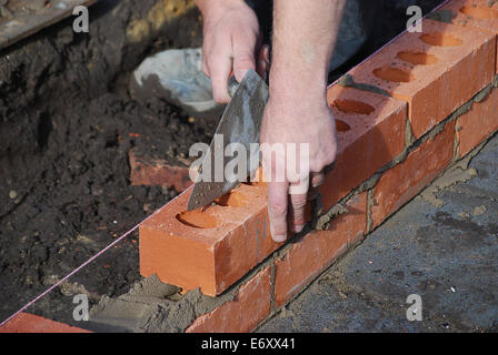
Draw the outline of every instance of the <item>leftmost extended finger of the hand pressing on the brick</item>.
[[[276,243],[287,240],[288,183],[270,182],[268,184],[268,214],[271,237]]]

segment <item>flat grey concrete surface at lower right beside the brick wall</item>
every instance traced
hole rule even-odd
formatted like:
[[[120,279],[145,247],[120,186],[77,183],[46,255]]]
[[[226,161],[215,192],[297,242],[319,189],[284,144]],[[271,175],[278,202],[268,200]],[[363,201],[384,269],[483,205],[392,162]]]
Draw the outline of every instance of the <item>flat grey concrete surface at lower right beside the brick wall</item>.
[[[258,332],[497,332],[498,135]],[[422,321],[408,321],[410,294]]]

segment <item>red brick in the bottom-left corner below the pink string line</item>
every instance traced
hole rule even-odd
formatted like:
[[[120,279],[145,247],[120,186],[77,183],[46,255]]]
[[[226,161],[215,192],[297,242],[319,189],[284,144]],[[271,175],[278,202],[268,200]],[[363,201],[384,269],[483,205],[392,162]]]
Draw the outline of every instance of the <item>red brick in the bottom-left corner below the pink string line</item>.
[[[20,313],[4,326],[0,333],[91,333],[76,326],[50,321],[30,313]]]

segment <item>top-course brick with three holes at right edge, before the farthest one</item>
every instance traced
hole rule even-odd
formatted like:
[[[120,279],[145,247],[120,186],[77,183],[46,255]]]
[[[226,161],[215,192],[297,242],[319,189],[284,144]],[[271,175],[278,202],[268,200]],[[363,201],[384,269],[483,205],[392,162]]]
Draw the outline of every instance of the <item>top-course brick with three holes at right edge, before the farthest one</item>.
[[[351,70],[356,82],[408,102],[416,139],[488,85],[496,72],[496,37],[432,20],[406,32]]]

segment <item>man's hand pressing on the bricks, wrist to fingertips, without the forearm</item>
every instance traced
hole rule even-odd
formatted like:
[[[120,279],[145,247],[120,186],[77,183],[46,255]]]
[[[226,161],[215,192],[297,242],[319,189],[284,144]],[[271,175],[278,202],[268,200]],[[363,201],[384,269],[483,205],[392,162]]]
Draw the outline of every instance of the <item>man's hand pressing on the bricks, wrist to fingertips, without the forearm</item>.
[[[333,162],[337,151],[336,125],[326,100],[305,93],[296,103],[289,104],[288,99],[270,98],[261,129],[261,141],[267,143],[261,151],[269,179],[271,236],[277,243],[287,240],[288,223],[291,232],[301,232],[308,187],[323,182],[322,170]],[[279,144],[283,150],[277,149]],[[283,181],[278,179],[280,172]]]

